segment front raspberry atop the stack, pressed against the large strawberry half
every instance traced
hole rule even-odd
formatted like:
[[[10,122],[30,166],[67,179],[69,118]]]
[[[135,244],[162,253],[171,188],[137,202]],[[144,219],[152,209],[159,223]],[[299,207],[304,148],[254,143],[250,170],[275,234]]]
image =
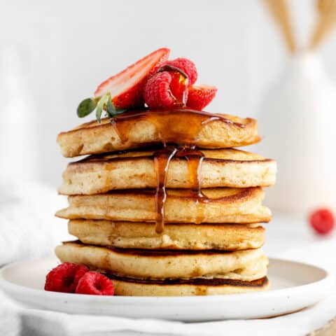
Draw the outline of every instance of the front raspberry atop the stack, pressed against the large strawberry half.
[[[172,83],[172,75],[167,71],[155,73],[148,79],[144,87],[144,99],[148,107],[163,108],[172,107],[176,98],[169,89]]]

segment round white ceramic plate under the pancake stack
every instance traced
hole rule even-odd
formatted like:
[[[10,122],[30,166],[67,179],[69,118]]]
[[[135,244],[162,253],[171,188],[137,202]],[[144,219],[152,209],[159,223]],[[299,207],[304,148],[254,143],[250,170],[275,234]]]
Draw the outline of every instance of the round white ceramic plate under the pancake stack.
[[[286,314],[322,300],[334,286],[324,269],[271,259],[270,290],[259,293],[193,297],[123,297],[53,293],[43,290],[55,258],[15,262],[0,270],[0,288],[26,307],[70,314],[209,321]]]

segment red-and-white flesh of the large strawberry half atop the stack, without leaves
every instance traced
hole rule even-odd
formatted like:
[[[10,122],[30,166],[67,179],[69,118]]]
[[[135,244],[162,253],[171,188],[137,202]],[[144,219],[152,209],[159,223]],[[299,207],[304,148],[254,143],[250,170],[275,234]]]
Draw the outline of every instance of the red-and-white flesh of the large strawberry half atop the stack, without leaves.
[[[118,109],[132,109],[144,106],[143,89],[152,73],[155,73],[169,56],[168,48],[160,48],[128,66],[125,70],[105,80],[94,92],[100,97],[106,92],[111,94],[113,105]]]

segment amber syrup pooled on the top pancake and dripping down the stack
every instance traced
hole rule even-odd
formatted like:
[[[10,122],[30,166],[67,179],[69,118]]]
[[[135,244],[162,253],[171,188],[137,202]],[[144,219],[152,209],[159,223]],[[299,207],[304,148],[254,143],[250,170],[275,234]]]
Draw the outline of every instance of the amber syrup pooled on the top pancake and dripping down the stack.
[[[181,118],[181,113],[188,113],[190,118]],[[195,148],[195,139],[203,125],[207,123],[222,121],[223,123],[234,124],[237,127],[244,127],[244,124],[235,123],[223,116],[190,109],[133,111],[112,118],[111,124],[120,141],[125,143],[129,141],[132,127],[141,120],[148,120],[155,125],[160,142],[164,145],[164,148],[155,151],[153,154],[157,177],[155,231],[162,233],[165,228],[167,173],[173,158],[186,158],[188,161],[190,181],[190,195],[188,196],[195,198],[197,210],[195,222],[197,224],[202,223],[204,220],[204,204],[209,202],[209,199],[202,193],[201,169],[204,155]],[[183,146],[167,146],[167,144],[176,144],[176,139],[179,139],[179,144],[183,144]]]

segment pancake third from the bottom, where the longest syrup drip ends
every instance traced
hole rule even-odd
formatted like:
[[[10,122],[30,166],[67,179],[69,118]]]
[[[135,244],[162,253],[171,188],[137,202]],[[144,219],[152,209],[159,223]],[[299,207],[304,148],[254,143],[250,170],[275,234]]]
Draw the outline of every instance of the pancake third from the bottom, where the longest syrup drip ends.
[[[158,234],[148,223],[77,219],[68,229],[84,244],[119,248],[245,250],[261,247],[265,237],[259,224],[166,224]]]

